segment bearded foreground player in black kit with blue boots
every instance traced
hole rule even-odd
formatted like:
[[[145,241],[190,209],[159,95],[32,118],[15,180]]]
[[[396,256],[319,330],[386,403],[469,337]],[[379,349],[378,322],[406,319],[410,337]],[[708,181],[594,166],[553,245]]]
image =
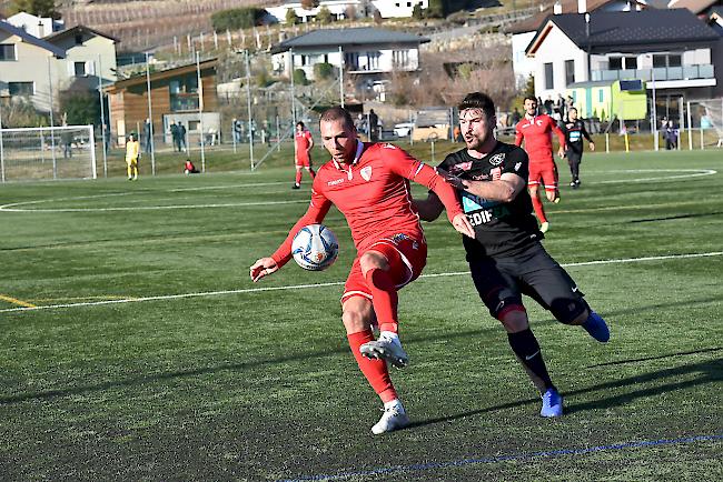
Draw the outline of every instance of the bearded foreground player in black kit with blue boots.
[[[475,238],[463,237],[477,292],[489,313],[507,331],[512,351],[542,394],[542,416],[561,416],[563,398],[553,384],[535,339],[522,295],[526,294],[565,324],[582,325],[595,340],[606,342],[610,331],[565,270],[539,242],[543,233],[532,214],[527,193],[527,154],[497,141],[492,99],[467,94],[459,104],[459,127],[466,147],[454,152],[437,171],[453,183],[474,227]],[[425,221],[444,209],[437,195],[415,200]]]

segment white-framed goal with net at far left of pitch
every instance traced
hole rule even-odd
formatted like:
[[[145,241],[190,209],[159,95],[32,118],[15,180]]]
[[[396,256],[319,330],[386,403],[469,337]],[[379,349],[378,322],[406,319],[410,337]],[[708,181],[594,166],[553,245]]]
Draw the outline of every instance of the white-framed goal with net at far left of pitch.
[[[96,179],[92,125],[0,129],[0,180]]]

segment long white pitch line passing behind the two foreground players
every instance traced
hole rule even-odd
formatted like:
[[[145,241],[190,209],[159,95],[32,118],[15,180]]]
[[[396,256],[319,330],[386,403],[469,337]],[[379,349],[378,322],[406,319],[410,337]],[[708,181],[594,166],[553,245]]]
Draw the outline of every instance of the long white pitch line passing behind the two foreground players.
[[[620,264],[620,263],[635,263],[635,262],[643,262],[643,261],[682,260],[682,259],[690,259],[690,258],[710,258],[710,257],[720,257],[720,255],[723,255],[723,251],[713,251],[707,253],[668,254],[668,255],[645,257],[645,258],[622,258],[617,260],[582,261],[577,263],[566,263],[562,265],[565,268],[590,267],[590,265],[597,265],[597,264]],[[419,278],[424,279],[424,278],[440,278],[440,277],[459,277],[464,274],[469,274],[469,271],[423,274]],[[102,304],[139,303],[145,301],[177,300],[184,298],[218,297],[222,294],[260,293],[266,291],[306,290],[313,288],[340,287],[344,285],[344,283],[345,283],[344,281],[335,281],[329,283],[291,284],[285,287],[269,287],[269,288],[247,288],[244,290],[222,290],[222,291],[205,291],[198,293],[164,294],[157,297],[126,298],[120,300],[89,301],[82,303],[46,304],[46,305],[33,307],[33,308],[7,308],[0,310],[0,313],[10,313],[10,312],[19,312],[19,311],[24,312],[24,311],[38,311],[38,310],[55,310],[61,308],[98,307]]]

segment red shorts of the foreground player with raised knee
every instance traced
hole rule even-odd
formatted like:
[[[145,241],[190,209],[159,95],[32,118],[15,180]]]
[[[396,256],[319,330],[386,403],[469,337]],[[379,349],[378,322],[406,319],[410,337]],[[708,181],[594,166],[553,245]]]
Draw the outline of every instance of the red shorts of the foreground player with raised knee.
[[[427,243],[417,241],[406,234],[380,238],[366,251],[379,251],[385,255],[389,262],[389,272],[395,277],[394,283],[397,289],[419,278],[427,263]],[[361,254],[364,252],[357,253],[357,258],[354,260],[351,272],[349,272],[349,278],[347,278],[344,285],[341,303],[351,297],[372,299],[372,291],[367,287],[367,281],[361,274],[361,267],[359,265]]]

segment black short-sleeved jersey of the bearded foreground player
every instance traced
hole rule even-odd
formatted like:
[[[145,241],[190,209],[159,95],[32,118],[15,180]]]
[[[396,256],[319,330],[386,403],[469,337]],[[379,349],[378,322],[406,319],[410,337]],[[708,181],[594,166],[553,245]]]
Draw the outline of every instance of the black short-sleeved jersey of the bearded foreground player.
[[[475,159],[462,149],[446,157],[438,165],[459,179],[494,181],[512,172],[527,182],[529,169],[527,153],[515,145],[497,142],[482,159]],[[463,237],[467,260],[483,257],[515,254],[543,238],[532,214],[532,200],[527,189],[511,202],[491,201],[458,191],[462,207],[475,229],[476,239]]]

